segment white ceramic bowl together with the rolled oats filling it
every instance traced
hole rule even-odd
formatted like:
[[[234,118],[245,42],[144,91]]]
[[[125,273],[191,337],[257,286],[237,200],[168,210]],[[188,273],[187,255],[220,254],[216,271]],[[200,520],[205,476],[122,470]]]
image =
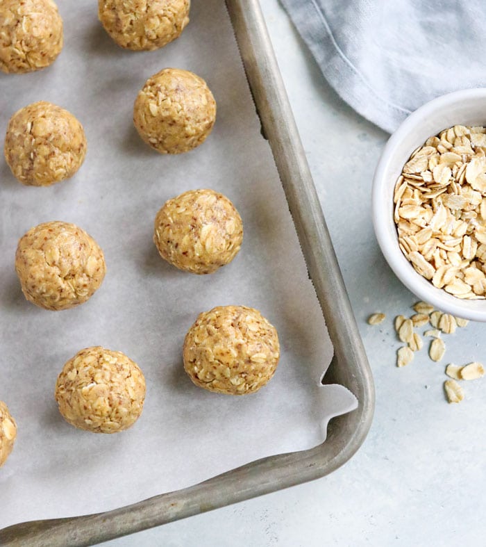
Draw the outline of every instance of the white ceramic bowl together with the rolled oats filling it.
[[[399,126],[374,174],[373,222],[410,291],[486,321],[486,88],[433,99]]]

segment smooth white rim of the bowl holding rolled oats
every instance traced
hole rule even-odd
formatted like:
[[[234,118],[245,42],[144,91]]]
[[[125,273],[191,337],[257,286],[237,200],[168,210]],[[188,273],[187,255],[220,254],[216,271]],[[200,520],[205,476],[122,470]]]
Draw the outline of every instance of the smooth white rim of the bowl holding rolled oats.
[[[396,277],[414,295],[432,304],[440,311],[451,313],[453,316],[486,322],[486,300],[461,300],[446,293],[444,289],[433,286],[428,279],[425,279],[414,270],[408,259],[401,252],[398,245],[398,237],[396,239],[389,237],[389,217],[387,215],[390,211],[393,211],[393,203],[388,204],[387,197],[384,197],[386,196],[385,190],[389,189],[389,185],[393,185],[394,188],[396,184],[396,181],[387,179],[386,175],[394,164],[394,154],[396,154],[401,146],[405,136],[413,133],[429,117],[437,115],[440,111],[444,111],[453,105],[467,102],[470,99],[484,99],[486,115],[486,88],[472,88],[436,97],[417,108],[416,111],[403,120],[392,136],[390,136],[385,147],[383,147],[376,165],[371,191],[372,218],[376,239],[383,256],[385,256],[385,260],[390,268],[392,268]],[[411,152],[413,150],[410,150]],[[387,209],[388,206],[389,209]]]

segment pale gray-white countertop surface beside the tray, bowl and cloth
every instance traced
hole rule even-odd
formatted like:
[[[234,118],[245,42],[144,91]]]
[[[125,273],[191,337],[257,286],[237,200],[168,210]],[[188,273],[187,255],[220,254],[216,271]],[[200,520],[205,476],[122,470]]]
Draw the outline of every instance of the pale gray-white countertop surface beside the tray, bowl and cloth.
[[[486,519],[486,379],[448,405],[447,363],[486,361],[485,325],[428,340],[396,368],[393,318],[417,299],[388,268],[371,224],[371,179],[387,134],[327,85],[278,0],[262,8],[374,373],[376,413],[359,452],[332,475],[108,542],[112,546],[479,546]],[[371,327],[374,311],[387,315]],[[422,331],[423,329],[421,329]]]

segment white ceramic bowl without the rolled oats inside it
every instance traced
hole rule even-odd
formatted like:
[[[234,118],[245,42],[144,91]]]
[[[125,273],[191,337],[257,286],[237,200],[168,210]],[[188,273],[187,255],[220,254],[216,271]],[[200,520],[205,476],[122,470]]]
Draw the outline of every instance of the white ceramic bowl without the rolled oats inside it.
[[[424,104],[389,138],[373,181],[373,223],[381,251],[396,276],[420,300],[454,316],[486,321],[486,300],[461,300],[419,275],[399,248],[393,220],[393,194],[403,165],[428,137],[454,125],[486,126],[486,88],[442,95]]]

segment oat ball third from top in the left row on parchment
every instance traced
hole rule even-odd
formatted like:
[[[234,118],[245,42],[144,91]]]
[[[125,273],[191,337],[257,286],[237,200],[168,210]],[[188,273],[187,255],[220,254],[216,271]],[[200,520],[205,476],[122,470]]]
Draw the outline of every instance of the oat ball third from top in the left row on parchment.
[[[105,277],[103,251],[75,224],[44,222],[17,245],[15,270],[27,300],[44,309],[86,302]]]

